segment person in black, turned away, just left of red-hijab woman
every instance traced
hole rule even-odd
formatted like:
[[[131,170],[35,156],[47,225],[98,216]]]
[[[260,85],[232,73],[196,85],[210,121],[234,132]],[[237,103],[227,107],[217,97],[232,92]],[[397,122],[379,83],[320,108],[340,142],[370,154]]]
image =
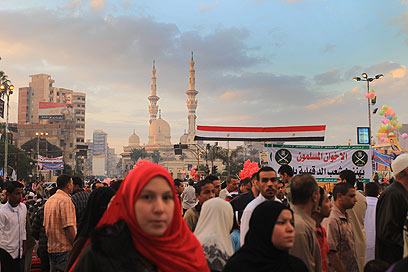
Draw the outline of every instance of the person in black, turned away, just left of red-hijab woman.
[[[69,271],[78,255],[81,253],[85,242],[89,237],[91,237],[92,231],[102,218],[103,213],[108,208],[108,204],[114,195],[115,191],[109,187],[96,188],[89,195],[84,216],[79,224],[77,236],[75,238],[72,251],[69,255],[68,264],[65,271]]]

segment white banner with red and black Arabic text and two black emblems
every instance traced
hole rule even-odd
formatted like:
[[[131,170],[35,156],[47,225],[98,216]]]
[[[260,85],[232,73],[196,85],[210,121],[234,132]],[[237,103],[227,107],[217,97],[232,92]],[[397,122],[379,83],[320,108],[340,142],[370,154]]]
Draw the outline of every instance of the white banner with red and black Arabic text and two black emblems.
[[[268,164],[274,169],[290,165],[296,174],[309,173],[319,182],[336,182],[342,170],[349,169],[363,181],[370,181],[372,163],[369,146],[296,146],[265,147]]]

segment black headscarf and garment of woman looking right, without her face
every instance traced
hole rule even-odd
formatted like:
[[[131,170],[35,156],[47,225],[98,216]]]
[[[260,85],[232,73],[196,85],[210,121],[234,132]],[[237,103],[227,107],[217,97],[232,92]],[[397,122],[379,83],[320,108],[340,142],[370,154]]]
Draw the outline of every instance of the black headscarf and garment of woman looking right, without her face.
[[[272,244],[272,232],[283,210],[291,209],[276,201],[265,201],[255,208],[249,221],[245,244],[227,262],[227,271],[308,271],[305,264],[287,250]]]

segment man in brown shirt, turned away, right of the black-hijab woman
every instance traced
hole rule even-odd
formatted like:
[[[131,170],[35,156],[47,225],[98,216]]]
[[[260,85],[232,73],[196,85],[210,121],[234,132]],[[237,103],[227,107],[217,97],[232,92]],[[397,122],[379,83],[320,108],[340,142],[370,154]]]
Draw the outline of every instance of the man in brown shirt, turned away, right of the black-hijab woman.
[[[312,212],[319,203],[320,192],[316,179],[310,174],[297,175],[290,184],[295,221],[295,244],[289,250],[300,258],[310,272],[322,271],[322,258]]]

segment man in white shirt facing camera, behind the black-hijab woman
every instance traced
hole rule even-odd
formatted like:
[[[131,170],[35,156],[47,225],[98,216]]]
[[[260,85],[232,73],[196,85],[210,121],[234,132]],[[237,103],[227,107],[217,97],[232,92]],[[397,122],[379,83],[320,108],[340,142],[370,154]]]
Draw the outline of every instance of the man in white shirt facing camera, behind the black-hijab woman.
[[[255,208],[264,201],[267,200],[276,200],[275,194],[278,187],[278,179],[276,171],[269,166],[264,166],[258,171],[258,185],[260,194],[257,198],[252,200],[248,206],[246,206],[242,218],[241,218],[241,233],[240,233],[240,242],[241,247],[245,242],[245,235],[249,229],[249,220],[251,219],[252,212]]]

